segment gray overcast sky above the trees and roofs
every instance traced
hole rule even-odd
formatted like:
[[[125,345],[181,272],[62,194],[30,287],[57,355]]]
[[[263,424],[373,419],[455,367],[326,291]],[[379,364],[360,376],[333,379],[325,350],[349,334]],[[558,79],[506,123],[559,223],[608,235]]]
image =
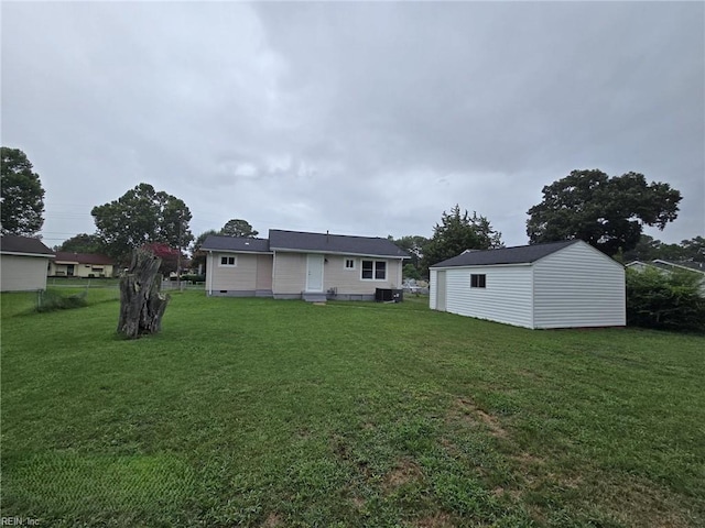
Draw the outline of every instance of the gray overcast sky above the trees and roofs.
[[[572,169],[683,194],[705,235],[703,2],[11,2],[2,145],[46,190],[47,245],[149,183],[192,232],[431,237],[477,211],[507,245]]]

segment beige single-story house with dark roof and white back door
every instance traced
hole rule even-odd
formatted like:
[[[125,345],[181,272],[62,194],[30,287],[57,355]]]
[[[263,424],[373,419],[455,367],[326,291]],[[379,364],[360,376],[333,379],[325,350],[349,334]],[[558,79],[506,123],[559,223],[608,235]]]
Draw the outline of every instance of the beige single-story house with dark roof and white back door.
[[[387,239],[272,229],[268,239],[208,237],[208,295],[372,300],[401,288],[409,255]]]

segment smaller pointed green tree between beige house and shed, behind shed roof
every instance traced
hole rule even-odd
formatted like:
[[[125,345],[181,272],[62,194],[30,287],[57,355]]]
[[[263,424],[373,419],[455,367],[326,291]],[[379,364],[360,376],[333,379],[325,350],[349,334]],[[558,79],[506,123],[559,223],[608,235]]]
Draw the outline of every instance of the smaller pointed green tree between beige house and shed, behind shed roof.
[[[465,250],[490,250],[502,248],[501,233],[492,229],[489,220],[477,212],[470,217],[467,210],[460,213],[456,205],[451,213],[443,211],[441,224],[433,228],[433,237],[424,246],[424,266],[459,255]]]

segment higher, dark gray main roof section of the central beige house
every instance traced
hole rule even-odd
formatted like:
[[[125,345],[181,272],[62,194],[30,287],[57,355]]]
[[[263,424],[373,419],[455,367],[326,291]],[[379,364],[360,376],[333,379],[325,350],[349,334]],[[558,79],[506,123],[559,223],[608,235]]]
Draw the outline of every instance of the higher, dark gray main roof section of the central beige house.
[[[270,229],[269,245],[272,250],[410,258],[406,252],[399,249],[390,240],[370,237]]]

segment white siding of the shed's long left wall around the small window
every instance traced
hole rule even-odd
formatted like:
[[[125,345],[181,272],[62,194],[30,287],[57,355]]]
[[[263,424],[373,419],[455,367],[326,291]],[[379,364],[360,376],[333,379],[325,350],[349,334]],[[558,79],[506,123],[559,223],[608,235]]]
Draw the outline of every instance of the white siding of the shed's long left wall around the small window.
[[[486,275],[471,288],[470,275]],[[529,266],[468,266],[446,271],[446,311],[519,327],[532,327]]]

